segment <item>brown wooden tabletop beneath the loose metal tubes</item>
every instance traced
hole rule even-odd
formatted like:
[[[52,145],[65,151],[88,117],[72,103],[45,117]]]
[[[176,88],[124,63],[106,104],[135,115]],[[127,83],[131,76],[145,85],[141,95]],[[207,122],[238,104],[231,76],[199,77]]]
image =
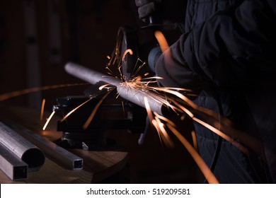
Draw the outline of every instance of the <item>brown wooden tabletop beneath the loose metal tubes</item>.
[[[21,126],[30,129],[45,139],[54,141],[62,136],[62,132],[56,131],[56,122],[59,117],[53,117],[47,130],[42,126],[46,117],[40,120],[40,111],[26,107],[0,107],[0,120],[12,120]],[[85,151],[82,149],[69,149],[71,153],[84,159],[84,168],[81,170],[69,170],[58,162],[52,161],[46,156],[45,163],[38,172],[28,173],[28,179],[13,181],[0,170],[0,183],[96,183],[122,170],[127,164],[127,151],[120,146],[106,146],[100,151]]]

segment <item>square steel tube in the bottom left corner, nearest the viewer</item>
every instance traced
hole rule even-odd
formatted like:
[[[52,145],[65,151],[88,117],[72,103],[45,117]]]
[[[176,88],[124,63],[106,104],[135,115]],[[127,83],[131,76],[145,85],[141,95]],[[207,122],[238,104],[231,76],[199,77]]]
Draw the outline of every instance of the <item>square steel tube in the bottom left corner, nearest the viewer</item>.
[[[0,169],[11,180],[26,180],[28,164],[0,143]]]

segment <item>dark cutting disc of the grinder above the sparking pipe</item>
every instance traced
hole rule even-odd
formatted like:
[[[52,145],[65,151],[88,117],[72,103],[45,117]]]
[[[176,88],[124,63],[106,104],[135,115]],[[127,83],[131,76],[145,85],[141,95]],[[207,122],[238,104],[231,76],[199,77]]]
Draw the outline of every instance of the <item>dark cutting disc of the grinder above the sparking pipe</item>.
[[[117,42],[120,45],[121,58],[126,50],[132,50],[132,54],[126,53],[122,59],[122,75],[125,81],[129,81],[132,74],[134,74],[135,66],[138,59],[138,36],[137,31],[132,26],[122,26],[117,33]]]

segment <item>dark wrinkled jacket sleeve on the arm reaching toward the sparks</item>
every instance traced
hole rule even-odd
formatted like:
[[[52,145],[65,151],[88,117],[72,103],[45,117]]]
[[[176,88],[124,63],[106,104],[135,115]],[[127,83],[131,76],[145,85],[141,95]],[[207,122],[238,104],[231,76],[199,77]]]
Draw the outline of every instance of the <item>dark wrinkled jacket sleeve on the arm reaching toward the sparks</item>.
[[[275,3],[268,2],[243,1],[196,25],[170,47],[176,71],[159,66],[156,74],[184,87],[195,76],[217,86],[253,86],[275,78]]]

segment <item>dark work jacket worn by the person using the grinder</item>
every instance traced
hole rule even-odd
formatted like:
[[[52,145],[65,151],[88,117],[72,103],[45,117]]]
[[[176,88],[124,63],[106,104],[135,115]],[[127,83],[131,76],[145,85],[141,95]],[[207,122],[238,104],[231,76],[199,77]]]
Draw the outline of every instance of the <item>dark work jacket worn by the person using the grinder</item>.
[[[276,182],[275,2],[188,1],[185,33],[156,64],[162,86],[192,88],[195,104],[231,120],[229,136],[248,148],[194,123],[199,153],[222,183]]]

